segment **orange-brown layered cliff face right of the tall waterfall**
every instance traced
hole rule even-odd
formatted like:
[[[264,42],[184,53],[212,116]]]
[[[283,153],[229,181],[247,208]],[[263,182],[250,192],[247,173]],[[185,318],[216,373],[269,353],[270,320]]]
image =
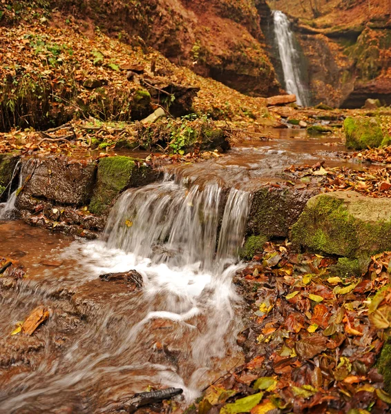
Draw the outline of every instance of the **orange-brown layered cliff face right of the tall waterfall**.
[[[269,4],[294,20],[314,103],[357,108],[369,97],[391,103],[390,2],[271,0]]]

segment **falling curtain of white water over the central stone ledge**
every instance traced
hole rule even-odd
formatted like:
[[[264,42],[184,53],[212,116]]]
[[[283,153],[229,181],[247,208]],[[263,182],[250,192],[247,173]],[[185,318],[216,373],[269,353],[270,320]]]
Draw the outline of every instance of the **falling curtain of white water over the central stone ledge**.
[[[166,175],[160,184],[127,190],[108,217],[108,247],[172,266],[199,263],[211,270],[216,262],[234,262],[245,231],[249,193],[229,191],[218,239],[225,190],[213,182],[187,181]]]

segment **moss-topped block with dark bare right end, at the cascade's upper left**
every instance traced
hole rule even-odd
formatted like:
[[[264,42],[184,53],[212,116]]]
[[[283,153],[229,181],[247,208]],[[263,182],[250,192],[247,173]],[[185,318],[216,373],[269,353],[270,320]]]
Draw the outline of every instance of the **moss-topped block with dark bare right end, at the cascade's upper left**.
[[[96,215],[108,212],[117,196],[126,188],[148,184],[158,172],[130,157],[107,157],[99,160],[97,184],[89,210]]]

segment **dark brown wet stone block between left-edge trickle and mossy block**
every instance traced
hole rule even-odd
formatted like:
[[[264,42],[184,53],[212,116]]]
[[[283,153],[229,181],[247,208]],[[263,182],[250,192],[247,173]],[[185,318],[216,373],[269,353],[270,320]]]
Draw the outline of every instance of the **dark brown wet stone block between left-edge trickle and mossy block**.
[[[31,197],[73,206],[88,204],[95,183],[95,161],[53,157],[36,159],[30,167],[31,177],[23,183],[17,208]]]

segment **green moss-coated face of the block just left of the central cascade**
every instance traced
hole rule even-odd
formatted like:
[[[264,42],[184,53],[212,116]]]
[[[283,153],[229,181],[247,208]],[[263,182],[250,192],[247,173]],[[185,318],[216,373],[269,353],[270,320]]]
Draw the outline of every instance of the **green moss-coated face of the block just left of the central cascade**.
[[[106,213],[113,200],[131,181],[135,161],[129,157],[107,157],[99,160],[97,186],[88,210],[101,215]]]

